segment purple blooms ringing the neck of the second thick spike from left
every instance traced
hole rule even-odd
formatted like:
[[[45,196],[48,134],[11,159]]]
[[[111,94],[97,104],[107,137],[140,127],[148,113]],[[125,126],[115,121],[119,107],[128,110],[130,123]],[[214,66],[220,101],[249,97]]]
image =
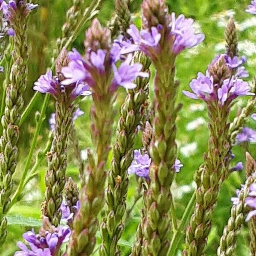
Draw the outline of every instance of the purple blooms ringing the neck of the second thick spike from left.
[[[47,71],[45,75],[40,76],[38,81],[34,84],[34,90],[37,90],[40,93],[50,93],[55,98],[65,91],[70,93],[71,99],[75,99],[79,95],[87,96],[91,94],[88,85],[80,83],[79,81],[76,83],[68,83],[66,86],[61,85],[59,78],[57,76],[52,76],[52,71]]]

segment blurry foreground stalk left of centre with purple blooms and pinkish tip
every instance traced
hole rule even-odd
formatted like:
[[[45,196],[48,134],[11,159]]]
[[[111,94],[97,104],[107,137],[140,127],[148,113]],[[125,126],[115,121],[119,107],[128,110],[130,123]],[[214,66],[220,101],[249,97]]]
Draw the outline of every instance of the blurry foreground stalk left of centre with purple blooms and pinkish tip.
[[[98,20],[94,20],[87,30],[84,46],[85,57],[74,49],[69,54],[69,65],[62,69],[66,78],[62,84],[83,81],[91,88],[91,137],[95,145],[95,153],[88,151],[85,185],[79,196],[81,207],[74,218],[67,249],[69,256],[90,255],[96,243],[97,215],[104,205],[105,166],[110,150],[117,87],[121,85],[132,89],[136,87],[133,81],[138,76],[148,77],[148,73],[141,72],[142,64],[131,64],[131,55],[116,67],[116,62],[120,62],[120,49],[112,46],[110,30],[103,28]]]

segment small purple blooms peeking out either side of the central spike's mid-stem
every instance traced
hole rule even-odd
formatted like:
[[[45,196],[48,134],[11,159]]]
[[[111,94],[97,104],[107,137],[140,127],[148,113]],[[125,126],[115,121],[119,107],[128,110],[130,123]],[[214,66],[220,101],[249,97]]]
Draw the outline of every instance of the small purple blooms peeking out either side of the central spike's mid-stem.
[[[128,168],[128,174],[136,174],[138,177],[149,177],[149,167],[151,164],[151,158],[147,153],[142,154],[141,150],[134,150],[134,160],[131,163],[131,166]],[[180,172],[180,168],[183,167],[183,164],[180,163],[179,159],[175,160],[173,169],[175,172]]]

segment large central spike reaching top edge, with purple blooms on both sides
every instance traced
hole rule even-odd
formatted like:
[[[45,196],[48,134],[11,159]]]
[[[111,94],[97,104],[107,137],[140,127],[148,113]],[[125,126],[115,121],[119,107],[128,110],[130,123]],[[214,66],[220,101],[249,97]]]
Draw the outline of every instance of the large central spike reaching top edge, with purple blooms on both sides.
[[[150,145],[151,184],[144,193],[142,220],[137,230],[133,256],[167,255],[170,224],[168,212],[172,204],[170,187],[175,176],[177,146],[175,120],[178,82],[175,81],[175,58],[186,48],[198,45],[204,35],[195,34],[192,19],[168,14],[164,0],[144,0],[143,29],[131,25],[128,34],[134,44],[124,44],[122,53],[141,50],[156,68],[154,87],[153,139]]]

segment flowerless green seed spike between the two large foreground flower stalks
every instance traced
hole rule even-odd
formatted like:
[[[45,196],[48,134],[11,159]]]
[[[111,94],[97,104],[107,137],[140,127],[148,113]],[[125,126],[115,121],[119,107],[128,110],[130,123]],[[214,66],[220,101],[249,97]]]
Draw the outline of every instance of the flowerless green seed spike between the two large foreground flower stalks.
[[[151,61],[143,54],[138,54],[135,61],[148,71]],[[113,147],[113,160],[108,175],[108,188],[105,204],[105,218],[101,224],[102,244],[100,255],[115,255],[119,252],[117,242],[122,235],[122,217],[126,209],[128,190],[128,167],[133,160],[132,148],[136,128],[143,118],[145,102],[148,98],[148,78],[137,78],[137,87],[128,90],[121,108],[116,129],[116,143]]]

